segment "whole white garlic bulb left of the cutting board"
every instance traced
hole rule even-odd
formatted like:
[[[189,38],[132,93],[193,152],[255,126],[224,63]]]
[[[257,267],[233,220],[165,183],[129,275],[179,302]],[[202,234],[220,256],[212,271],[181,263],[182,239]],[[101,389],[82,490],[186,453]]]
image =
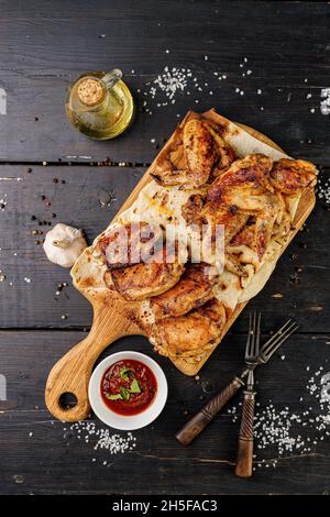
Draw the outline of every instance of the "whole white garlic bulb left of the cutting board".
[[[62,267],[72,267],[85,248],[82,231],[63,223],[50,230],[44,242],[47,258]]]

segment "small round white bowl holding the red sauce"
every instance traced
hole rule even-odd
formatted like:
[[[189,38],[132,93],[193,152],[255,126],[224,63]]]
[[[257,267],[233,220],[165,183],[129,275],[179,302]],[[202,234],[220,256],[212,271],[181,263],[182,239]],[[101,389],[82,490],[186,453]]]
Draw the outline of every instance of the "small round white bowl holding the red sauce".
[[[112,411],[101,398],[101,381],[103,373],[117,361],[123,361],[125,359],[133,359],[141,361],[146,364],[154,373],[157,381],[157,392],[152,404],[142,413],[138,415],[118,415]],[[141,429],[142,427],[148,426],[154,421],[157,416],[162,413],[166,399],[167,399],[167,381],[161,366],[148,355],[140,352],[127,351],[117,352],[109,358],[103,359],[100,364],[95,369],[89,381],[88,396],[91,408],[96,416],[114,429],[121,429],[123,431],[133,431]]]

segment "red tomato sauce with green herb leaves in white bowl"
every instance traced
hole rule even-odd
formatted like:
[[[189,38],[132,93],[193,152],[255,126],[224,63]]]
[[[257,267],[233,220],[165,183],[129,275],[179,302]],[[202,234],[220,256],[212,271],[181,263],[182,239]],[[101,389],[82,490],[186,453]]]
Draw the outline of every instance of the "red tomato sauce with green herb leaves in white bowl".
[[[125,359],[117,361],[106,370],[101,380],[101,397],[112,411],[138,415],[154,400],[157,381],[148,366],[141,361]]]

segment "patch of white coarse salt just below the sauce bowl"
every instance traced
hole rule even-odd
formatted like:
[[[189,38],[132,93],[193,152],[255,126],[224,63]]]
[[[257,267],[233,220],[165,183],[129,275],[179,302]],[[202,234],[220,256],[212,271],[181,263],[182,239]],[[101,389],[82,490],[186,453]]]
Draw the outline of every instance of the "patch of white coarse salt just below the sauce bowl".
[[[64,438],[67,439],[68,435],[66,429],[67,428],[64,428]],[[96,422],[91,420],[75,422],[68,427],[68,430],[72,431],[78,440],[85,441],[85,443],[89,443],[90,441],[95,451],[105,449],[109,451],[110,454],[123,454],[124,452],[132,451],[136,446],[136,438],[132,432],[127,432],[125,435],[110,435],[110,429],[99,428]],[[96,461],[96,459],[92,459],[92,461]]]

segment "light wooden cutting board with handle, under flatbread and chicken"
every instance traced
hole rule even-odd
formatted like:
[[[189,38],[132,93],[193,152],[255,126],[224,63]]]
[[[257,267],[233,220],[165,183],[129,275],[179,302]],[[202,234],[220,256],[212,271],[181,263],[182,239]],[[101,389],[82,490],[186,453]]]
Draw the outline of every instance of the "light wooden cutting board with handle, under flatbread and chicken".
[[[205,113],[204,116],[207,118],[209,117],[212,120],[215,120],[217,117],[220,118],[220,116],[218,116],[213,110]],[[186,118],[183,120],[182,124],[184,124]],[[272,142],[267,136],[263,135],[254,129],[242,124],[240,125],[257,140],[271,145],[278,151],[282,151],[280,147],[278,147],[278,145]],[[119,213],[121,213],[123,210],[127,210],[132,205],[132,202],[135,201],[140,190],[151,180],[148,173],[154,169],[158,157],[164,155],[164,153],[166,154],[166,152],[169,150],[174,135],[168,140],[160,155],[156,157],[154,163],[150,166],[142,179],[133,189]],[[293,224],[294,229],[292,230],[286,244],[283,246],[283,251],[293,240],[295,234],[299,231],[300,227],[311,212],[315,206],[315,201],[316,198],[314,190],[311,188],[306,189],[300,198],[300,202],[296,212]],[[116,218],[119,216],[119,213],[116,216]],[[52,415],[54,415],[55,418],[64,421],[81,420],[89,415],[90,405],[88,400],[88,384],[94,364],[96,363],[100,353],[119,338],[124,336],[143,334],[132,318],[134,308],[136,310],[136,302],[125,301],[119,295],[116,295],[111,292],[109,292],[106,297],[91,297],[87,289],[81,286],[78,288],[92,305],[92,326],[89,334],[55,364],[48,375],[45,388],[45,402],[48,410]],[[237,306],[235,310],[227,321],[222,337],[228,332],[229,328],[232,326],[245,305],[246,302],[239,304]],[[219,342],[220,341],[221,339]],[[196,375],[207,359],[211,355],[213,350],[217,348],[219,342],[215,344],[215,346],[210,349],[197,364],[188,363],[185,359],[175,360],[173,362],[175,366],[186,375]],[[67,393],[74,394],[76,397],[77,404],[74,407],[67,408],[64,407],[61,403],[62,396]]]

